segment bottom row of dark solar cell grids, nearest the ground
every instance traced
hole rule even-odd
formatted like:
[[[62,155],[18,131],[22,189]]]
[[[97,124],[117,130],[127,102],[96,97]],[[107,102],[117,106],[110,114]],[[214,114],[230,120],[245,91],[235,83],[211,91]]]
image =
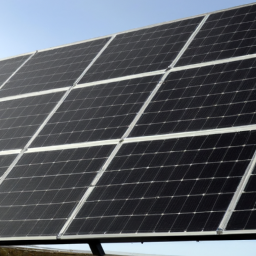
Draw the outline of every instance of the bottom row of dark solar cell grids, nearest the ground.
[[[215,231],[255,138],[254,131],[124,144],[66,234]],[[113,148],[25,153],[0,186],[0,235],[57,235]],[[0,157],[2,171],[14,157]],[[231,230],[246,229],[245,215],[253,221],[254,180],[255,172]]]

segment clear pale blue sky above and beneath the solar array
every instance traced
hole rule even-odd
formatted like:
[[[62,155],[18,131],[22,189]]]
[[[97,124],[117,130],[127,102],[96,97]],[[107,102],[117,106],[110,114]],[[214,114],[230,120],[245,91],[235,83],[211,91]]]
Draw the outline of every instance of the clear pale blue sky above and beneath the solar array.
[[[0,58],[233,6],[245,0],[0,0]],[[103,244],[108,251],[187,256],[255,256],[255,241]],[[65,249],[88,250],[87,245]]]

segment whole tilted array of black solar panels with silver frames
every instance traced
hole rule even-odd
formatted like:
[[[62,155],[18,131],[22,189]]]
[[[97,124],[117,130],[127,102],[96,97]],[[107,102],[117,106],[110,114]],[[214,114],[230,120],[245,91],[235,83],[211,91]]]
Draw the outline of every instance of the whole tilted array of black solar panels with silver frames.
[[[0,241],[255,234],[255,12],[0,61]]]

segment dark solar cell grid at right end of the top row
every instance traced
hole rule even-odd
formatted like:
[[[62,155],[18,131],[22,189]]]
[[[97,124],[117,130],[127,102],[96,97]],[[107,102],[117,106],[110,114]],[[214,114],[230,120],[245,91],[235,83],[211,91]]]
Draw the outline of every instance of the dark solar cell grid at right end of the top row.
[[[176,66],[256,52],[256,5],[211,14]]]

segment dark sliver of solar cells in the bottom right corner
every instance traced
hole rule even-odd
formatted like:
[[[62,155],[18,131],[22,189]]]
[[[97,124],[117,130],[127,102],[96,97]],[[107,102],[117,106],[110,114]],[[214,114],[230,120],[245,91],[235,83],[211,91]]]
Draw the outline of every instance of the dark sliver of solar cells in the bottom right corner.
[[[253,173],[238,201],[235,211],[232,213],[227,230],[256,229],[256,169]]]

